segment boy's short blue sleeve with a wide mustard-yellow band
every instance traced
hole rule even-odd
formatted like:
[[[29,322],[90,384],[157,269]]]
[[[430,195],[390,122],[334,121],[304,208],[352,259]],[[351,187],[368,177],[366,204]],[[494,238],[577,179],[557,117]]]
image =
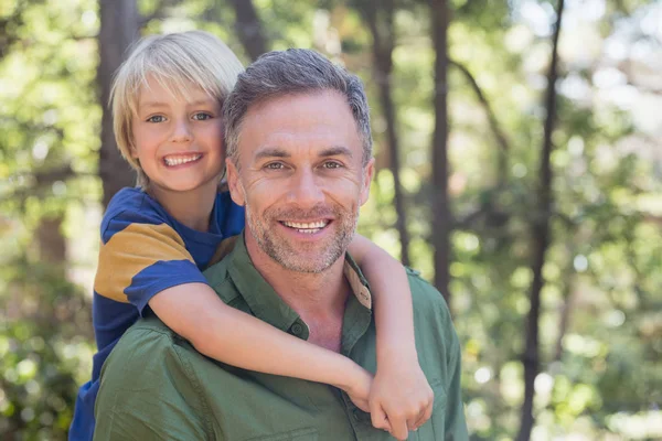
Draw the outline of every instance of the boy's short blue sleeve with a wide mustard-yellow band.
[[[149,300],[182,283],[206,283],[183,239],[157,215],[124,211],[102,224],[94,290],[134,304],[143,314]]]

